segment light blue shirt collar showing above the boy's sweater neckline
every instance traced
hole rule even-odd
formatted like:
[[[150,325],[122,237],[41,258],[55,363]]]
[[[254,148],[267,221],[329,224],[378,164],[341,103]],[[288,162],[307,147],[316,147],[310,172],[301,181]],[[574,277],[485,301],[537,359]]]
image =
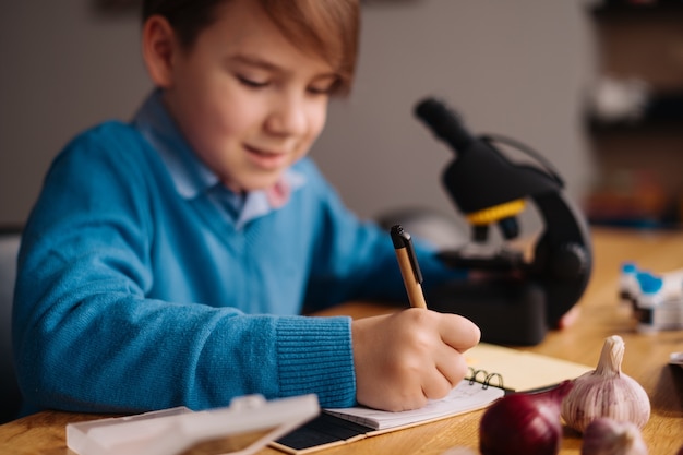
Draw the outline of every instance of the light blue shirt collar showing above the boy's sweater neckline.
[[[218,176],[196,156],[178,130],[176,122],[164,106],[160,89],[155,89],[147,97],[136,112],[133,125],[158,152],[171,176],[176,191],[182,197],[191,200],[211,191],[216,185],[221,185]],[[304,184],[303,175],[291,168],[287,169],[276,188],[247,193],[243,204],[237,209],[237,224],[243,225],[250,219],[279,208],[286,204],[293,191]],[[280,188],[287,189],[284,199]],[[226,191],[229,192],[227,189]],[[273,197],[274,192],[279,197]],[[238,197],[231,197],[231,200],[236,201]]]

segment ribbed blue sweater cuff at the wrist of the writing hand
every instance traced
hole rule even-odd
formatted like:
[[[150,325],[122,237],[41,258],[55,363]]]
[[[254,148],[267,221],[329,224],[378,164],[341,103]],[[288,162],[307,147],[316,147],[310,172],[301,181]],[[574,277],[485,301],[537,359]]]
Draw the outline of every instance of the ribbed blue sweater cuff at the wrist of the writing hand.
[[[350,318],[280,318],[277,358],[283,396],[315,393],[321,407],[356,404]]]

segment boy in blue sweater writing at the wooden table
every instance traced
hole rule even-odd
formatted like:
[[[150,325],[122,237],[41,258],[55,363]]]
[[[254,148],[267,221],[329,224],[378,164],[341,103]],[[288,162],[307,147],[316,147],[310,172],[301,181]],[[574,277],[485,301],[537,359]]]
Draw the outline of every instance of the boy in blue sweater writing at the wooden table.
[[[149,0],[157,89],[81,134],[26,225],[13,340],[29,410],[136,412],[316,393],[390,410],[444,396],[479,330],[409,309],[387,232],[305,158],[350,87],[356,0]],[[427,283],[456,273],[416,246]]]

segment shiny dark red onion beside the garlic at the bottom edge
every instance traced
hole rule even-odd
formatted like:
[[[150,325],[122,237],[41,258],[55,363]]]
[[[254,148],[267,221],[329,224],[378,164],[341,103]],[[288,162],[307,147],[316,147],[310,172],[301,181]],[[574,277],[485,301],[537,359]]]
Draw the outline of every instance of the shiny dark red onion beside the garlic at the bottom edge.
[[[560,407],[574,384],[550,391],[515,393],[491,405],[479,424],[482,455],[555,455],[562,443]]]

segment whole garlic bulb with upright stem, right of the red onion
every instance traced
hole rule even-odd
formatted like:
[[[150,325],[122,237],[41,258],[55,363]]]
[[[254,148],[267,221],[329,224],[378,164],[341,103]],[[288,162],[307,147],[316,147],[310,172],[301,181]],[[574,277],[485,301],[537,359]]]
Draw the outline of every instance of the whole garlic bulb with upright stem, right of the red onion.
[[[598,367],[574,380],[562,402],[562,418],[583,432],[598,417],[627,421],[638,429],[650,418],[650,400],[640,384],[621,372],[624,340],[613,335],[604,340]]]

